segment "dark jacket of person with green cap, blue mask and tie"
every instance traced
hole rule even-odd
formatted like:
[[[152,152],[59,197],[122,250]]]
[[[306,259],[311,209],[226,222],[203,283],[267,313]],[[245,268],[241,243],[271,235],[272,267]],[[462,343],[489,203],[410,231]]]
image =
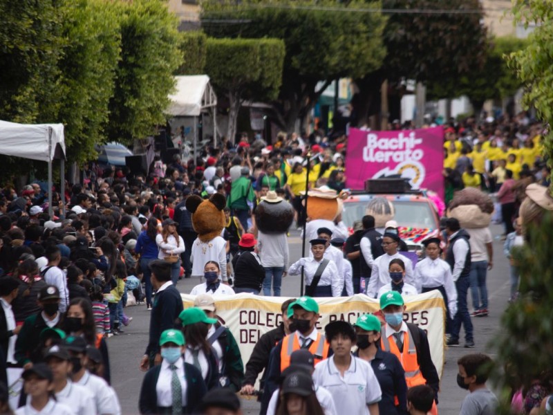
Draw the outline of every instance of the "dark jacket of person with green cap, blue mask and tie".
[[[171,414],[171,408],[161,408],[158,406],[158,394],[156,385],[160,376],[161,365],[151,368],[144,375],[142,380],[142,389],[140,389],[140,398],[138,409],[140,414]],[[203,381],[202,374],[194,367],[185,363],[185,378],[187,382],[186,401],[187,405],[182,407],[182,414],[191,414],[202,401],[207,388]]]

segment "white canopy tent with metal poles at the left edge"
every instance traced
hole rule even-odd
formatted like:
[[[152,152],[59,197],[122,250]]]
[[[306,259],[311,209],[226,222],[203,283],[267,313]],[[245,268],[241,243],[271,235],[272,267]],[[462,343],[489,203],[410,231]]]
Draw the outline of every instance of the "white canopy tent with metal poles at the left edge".
[[[60,193],[65,193],[65,138],[63,124],[17,124],[0,120],[0,154],[48,163],[48,214],[52,210],[52,161],[60,160]],[[65,214],[65,201],[63,200]]]

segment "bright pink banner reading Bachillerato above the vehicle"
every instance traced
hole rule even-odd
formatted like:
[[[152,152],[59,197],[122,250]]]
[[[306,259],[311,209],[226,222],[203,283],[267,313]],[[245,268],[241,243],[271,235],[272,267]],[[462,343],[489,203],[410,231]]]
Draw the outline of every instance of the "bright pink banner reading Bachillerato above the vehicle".
[[[413,189],[444,196],[444,129],[362,131],[350,129],[346,154],[346,185],[364,189],[368,178],[409,178]]]

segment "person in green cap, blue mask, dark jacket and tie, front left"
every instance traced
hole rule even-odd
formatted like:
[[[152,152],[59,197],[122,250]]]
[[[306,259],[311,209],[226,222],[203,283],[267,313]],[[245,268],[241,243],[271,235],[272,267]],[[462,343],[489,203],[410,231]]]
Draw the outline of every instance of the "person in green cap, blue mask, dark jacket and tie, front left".
[[[182,358],[186,347],[179,330],[163,331],[159,344],[163,360],[142,380],[140,413],[191,414],[207,391],[202,374]]]

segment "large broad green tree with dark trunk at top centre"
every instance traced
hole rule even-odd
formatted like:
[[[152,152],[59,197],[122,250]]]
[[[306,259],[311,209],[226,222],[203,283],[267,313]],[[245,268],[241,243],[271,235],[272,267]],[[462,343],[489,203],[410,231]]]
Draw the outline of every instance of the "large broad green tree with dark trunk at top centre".
[[[202,26],[213,37],[273,37],[285,43],[283,82],[275,122],[293,131],[326,86],[362,77],[382,64],[385,19],[379,1],[206,0]],[[371,9],[371,10],[367,10]],[[317,89],[319,81],[324,81]]]

